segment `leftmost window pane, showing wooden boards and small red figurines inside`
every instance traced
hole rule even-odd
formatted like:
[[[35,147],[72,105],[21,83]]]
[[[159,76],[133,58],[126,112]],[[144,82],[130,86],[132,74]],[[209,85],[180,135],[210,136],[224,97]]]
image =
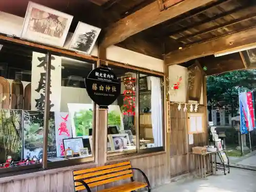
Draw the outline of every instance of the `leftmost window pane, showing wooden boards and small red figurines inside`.
[[[34,54],[40,55],[35,58],[37,65],[33,63]],[[42,166],[45,58],[45,53],[18,45],[3,44],[0,49],[1,172]]]

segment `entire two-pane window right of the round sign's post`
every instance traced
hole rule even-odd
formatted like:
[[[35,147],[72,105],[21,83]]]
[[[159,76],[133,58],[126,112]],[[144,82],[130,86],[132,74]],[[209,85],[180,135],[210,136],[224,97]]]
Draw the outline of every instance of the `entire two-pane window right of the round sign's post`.
[[[163,79],[110,66],[121,95],[108,110],[108,157],[163,150]]]

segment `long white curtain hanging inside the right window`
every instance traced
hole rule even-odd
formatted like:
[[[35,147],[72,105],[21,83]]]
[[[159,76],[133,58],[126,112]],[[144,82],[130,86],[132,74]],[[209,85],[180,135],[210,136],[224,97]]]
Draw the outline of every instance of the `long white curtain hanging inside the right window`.
[[[151,77],[151,119],[154,147],[163,146],[162,95],[158,77]]]

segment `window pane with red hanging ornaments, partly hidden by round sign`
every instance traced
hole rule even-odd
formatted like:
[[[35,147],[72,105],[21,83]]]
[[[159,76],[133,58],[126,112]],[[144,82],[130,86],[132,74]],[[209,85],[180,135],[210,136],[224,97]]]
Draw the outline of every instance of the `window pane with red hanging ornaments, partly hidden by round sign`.
[[[136,152],[137,73],[109,66],[121,82],[121,95],[108,109],[108,154]]]

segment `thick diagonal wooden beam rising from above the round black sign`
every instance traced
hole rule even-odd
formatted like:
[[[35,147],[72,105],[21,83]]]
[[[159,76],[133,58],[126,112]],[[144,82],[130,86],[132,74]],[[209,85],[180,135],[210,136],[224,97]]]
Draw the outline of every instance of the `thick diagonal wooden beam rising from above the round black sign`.
[[[185,0],[161,12],[159,11],[158,3],[153,2],[106,29],[101,46],[109,47],[115,45],[140,31],[211,2],[213,0]]]

